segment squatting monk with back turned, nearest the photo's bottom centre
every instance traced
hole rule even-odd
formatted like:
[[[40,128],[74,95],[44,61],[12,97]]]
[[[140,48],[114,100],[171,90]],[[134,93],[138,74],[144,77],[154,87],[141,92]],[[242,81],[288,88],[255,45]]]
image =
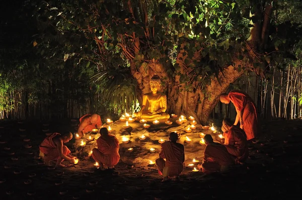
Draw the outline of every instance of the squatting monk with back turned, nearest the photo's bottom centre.
[[[176,142],[178,140],[176,132],[171,132],[169,139],[170,141],[162,143],[160,158],[156,159],[159,173],[164,176],[163,181],[168,180],[169,176],[175,176],[176,180],[178,180],[179,174],[185,167],[184,145]],[[164,158],[166,158],[166,161]]]

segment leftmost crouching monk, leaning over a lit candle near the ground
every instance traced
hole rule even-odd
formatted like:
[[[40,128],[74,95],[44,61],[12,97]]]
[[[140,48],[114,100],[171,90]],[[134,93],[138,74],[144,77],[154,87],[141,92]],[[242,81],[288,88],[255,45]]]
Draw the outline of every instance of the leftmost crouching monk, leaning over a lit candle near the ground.
[[[44,162],[47,165],[50,165],[51,161],[56,160],[56,167],[64,167],[65,165],[62,164],[64,159],[74,163],[76,157],[70,156],[70,150],[63,145],[63,143],[66,143],[71,139],[72,134],[69,131],[64,132],[63,134],[53,133],[46,137],[39,146],[40,155],[42,155]]]

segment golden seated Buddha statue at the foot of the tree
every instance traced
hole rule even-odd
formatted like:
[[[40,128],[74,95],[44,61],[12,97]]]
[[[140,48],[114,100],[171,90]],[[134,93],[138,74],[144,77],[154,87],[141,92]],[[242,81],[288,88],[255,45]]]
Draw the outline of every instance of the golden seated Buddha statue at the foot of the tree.
[[[161,79],[155,74],[150,80],[150,89],[152,92],[143,95],[141,109],[134,113],[136,118],[144,119],[147,122],[155,120],[165,122],[170,118],[170,115],[166,113],[167,96],[158,92],[160,87]],[[145,109],[146,107],[148,108],[147,110]]]

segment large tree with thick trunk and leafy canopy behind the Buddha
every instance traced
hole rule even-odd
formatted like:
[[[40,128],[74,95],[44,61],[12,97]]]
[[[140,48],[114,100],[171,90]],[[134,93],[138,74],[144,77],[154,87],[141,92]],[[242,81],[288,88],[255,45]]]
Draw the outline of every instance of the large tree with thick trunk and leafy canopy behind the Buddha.
[[[294,44],[284,37],[295,28],[278,29],[290,27],[278,20],[278,7],[286,9],[264,0],[44,1],[36,7],[35,43],[50,61],[58,56],[74,59],[74,66],[129,69],[140,103],[157,73],[168,112],[205,122],[230,83],[249,71],[264,77]]]

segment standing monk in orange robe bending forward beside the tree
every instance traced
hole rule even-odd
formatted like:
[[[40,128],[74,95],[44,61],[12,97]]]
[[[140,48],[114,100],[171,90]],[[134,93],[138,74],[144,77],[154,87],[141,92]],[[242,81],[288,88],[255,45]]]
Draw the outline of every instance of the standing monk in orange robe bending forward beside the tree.
[[[234,125],[240,121],[240,128],[245,131],[247,140],[258,136],[256,106],[248,94],[232,90],[229,94],[221,94],[220,101],[225,104],[229,104],[231,101],[234,104],[237,112]]]

